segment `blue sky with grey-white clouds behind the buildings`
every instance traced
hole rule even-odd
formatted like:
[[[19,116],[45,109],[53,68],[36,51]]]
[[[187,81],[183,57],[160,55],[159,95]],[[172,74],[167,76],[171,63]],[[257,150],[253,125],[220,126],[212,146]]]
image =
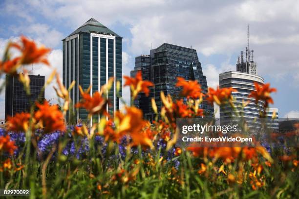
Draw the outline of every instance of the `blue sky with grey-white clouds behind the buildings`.
[[[299,118],[298,0],[0,0],[0,56],[8,40],[23,34],[53,49],[49,60],[62,74],[61,40],[91,17],[124,38],[123,75],[151,46],[192,45],[212,87],[220,72],[235,70],[249,24],[258,75],[278,89],[273,107],[280,117]],[[34,73],[48,76],[51,70],[37,65]],[[51,87],[45,97],[55,100]],[[0,119],[4,101],[2,92]]]

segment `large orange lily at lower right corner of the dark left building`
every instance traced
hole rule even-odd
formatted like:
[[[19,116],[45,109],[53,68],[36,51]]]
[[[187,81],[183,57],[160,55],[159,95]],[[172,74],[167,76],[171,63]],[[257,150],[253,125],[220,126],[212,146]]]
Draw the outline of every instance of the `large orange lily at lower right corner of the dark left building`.
[[[53,131],[65,131],[63,113],[58,109],[58,105],[50,105],[44,101],[43,104],[36,104],[39,110],[35,113],[34,118],[38,121],[40,127],[44,128],[45,133]]]

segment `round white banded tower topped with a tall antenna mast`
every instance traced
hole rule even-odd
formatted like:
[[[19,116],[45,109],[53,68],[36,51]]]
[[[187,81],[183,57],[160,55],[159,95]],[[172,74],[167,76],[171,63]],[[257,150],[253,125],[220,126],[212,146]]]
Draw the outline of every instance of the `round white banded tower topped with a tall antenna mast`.
[[[259,85],[264,84],[264,79],[257,75],[257,64],[253,59],[253,50],[249,49],[249,28],[248,40],[245,58],[243,51],[238,56],[236,63],[236,71],[227,71],[219,74],[219,87],[220,88],[234,88],[237,92],[232,92],[234,98],[235,110],[227,105],[220,106],[220,124],[226,125],[228,123],[235,123],[242,120],[247,122],[249,128],[253,131],[261,128],[260,114],[264,113],[265,102],[259,100],[256,104],[255,100],[248,96],[252,91],[255,91],[255,83]],[[243,108],[243,102],[248,104]]]

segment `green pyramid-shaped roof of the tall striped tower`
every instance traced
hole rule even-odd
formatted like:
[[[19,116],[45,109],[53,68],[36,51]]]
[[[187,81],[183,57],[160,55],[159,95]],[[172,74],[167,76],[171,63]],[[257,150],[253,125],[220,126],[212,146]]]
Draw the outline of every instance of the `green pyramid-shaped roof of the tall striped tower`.
[[[82,26],[80,26],[79,28],[77,28],[74,32],[72,32],[69,36],[70,37],[72,35],[75,35],[77,33],[98,33],[98,34],[104,34],[104,35],[112,35],[115,37],[120,37],[119,35],[117,35],[115,32],[113,32],[112,30],[110,30],[109,28],[107,28],[105,25],[103,25],[102,23],[100,23],[98,20],[95,20],[93,18],[87,20]]]

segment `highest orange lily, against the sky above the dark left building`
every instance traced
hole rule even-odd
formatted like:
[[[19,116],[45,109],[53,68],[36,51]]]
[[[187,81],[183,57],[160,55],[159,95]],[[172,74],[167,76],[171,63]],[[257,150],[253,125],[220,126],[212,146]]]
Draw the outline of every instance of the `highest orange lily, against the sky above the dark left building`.
[[[12,47],[19,49],[22,53],[21,63],[31,64],[31,63],[44,63],[50,65],[48,60],[45,58],[51,50],[45,47],[37,47],[34,41],[28,40],[26,37],[21,36],[22,45],[18,43],[11,43]]]

